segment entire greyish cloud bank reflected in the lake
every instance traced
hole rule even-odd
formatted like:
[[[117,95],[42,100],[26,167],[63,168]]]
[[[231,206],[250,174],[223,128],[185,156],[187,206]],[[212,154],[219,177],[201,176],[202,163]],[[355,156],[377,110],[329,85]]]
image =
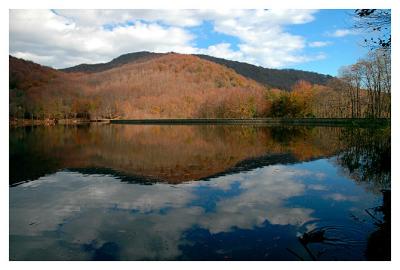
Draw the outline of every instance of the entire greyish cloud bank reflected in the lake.
[[[46,252],[41,256],[53,260],[67,253],[73,258],[85,255],[69,246],[100,248],[106,242],[121,248],[121,259],[173,259],[186,241],[183,233],[193,226],[217,233],[234,227],[251,229],[266,220],[294,226],[313,220],[311,209],[285,205],[305,191],[295,178],[312,177],[312,173],[283,169],[270,166],[173,188],[124,184],[107,175],[57,172],[11,190],[10,235],[25,237],[24,248],[18,250],[22,253],[32,251],[33,239],[45,239],[41,249]],[[232,184],[240,186],[240,194],[217,200],[215,212],[191,205],[199,198],[197,188],[228,190]],[[52,232],[62,232],[62,239]]]

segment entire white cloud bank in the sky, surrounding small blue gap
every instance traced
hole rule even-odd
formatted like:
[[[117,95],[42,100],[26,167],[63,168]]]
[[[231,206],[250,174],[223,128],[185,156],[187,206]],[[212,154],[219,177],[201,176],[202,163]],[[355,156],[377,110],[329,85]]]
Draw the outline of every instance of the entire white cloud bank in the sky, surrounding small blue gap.
[[[53,67],[106,62],[135,51],[204,53],[265,67],[318,60],[285,26],[315,10],[11,10],[10,54]],[[191,27],[205,21],[239,40],[196,47]]]

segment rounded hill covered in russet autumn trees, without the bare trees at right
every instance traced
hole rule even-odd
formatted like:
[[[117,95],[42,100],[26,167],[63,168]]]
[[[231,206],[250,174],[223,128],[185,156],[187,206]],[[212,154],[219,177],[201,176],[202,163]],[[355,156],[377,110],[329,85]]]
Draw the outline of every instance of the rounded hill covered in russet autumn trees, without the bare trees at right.
[[[98,72],[93,70],[99,66],[65,72],[10,56],[10,116],[97,119],[265,114],[268,102],[263,85],[197,56],[153,56],[121,56],[113,64],[100,65],[105,70]],[[135,60],[122,64],[127,59]]]

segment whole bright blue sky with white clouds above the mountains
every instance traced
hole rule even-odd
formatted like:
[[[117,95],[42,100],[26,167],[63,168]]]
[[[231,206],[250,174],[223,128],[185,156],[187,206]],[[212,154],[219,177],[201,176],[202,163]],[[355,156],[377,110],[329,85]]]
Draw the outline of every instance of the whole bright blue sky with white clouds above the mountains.
[[[10,10],[9,53],[54,68],[152,51],[337,75],[368,50],[353,10]]]

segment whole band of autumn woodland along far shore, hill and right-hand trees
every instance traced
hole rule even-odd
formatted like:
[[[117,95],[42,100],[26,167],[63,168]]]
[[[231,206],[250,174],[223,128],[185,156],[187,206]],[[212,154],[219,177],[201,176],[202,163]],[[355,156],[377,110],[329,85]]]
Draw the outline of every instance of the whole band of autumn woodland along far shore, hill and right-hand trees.
[[[380,51],[325,85],[299,77],[290,91],[194,55],[139,56],[79,72],[10,56],[10,118],[390,117],[390,55]]]

